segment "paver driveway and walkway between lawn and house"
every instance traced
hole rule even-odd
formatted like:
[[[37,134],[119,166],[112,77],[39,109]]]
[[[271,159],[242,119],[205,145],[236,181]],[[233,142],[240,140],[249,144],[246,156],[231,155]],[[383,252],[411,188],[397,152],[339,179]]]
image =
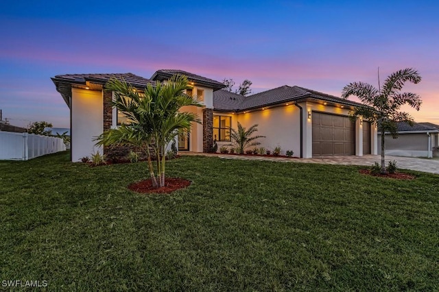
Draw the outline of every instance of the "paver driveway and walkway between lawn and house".
[[[375,162],[381,162],[381,156],[365,155],[365,156],[324,156],[322,158],[283,158],[283,157],[265,157],[251,155],[228,155],[228,154],[211,154],[211,153],[195,153],[180,152],[181,155],[202,155],[214,156],[223,159],[242,159],[242,160],[265,160],[277,162],[303,162],[303,163],[322,163],[327,165],[367,165],[371,166]],[[396,160],[396,167],[400,169],[411,169],[414,171],[424,171],[439,174],[438,159],[423,159],[412,157],[385,156],[386,164],[390,160]]]

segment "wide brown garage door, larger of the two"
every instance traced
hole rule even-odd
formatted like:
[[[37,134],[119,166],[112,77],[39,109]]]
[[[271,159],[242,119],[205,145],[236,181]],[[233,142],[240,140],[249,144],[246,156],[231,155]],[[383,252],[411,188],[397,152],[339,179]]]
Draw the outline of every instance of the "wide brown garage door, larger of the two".
[[[312,112],[313,156],[355,155],[355,124],[349,117]]]

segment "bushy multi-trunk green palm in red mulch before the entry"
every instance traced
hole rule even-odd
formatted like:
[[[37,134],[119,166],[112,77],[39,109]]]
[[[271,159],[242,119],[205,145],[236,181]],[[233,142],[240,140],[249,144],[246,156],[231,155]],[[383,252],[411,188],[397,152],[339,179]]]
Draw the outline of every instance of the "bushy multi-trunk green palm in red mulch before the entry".
[[[174,75],[166,84],[147,85],[143,93],[124,81],[113,78],[106,85],[115,93],[112,106],[126,114],[129,123],[110,129],[97,137],[97,145],[134,145],[147,156],[152,185],[165,186],[165,151],[178,134],[201,123],[197,114],[180,112],[183,106],[201,106],[196,97],[185,94],[187,77]],[[156,171],[152,158],[156,160]]]

